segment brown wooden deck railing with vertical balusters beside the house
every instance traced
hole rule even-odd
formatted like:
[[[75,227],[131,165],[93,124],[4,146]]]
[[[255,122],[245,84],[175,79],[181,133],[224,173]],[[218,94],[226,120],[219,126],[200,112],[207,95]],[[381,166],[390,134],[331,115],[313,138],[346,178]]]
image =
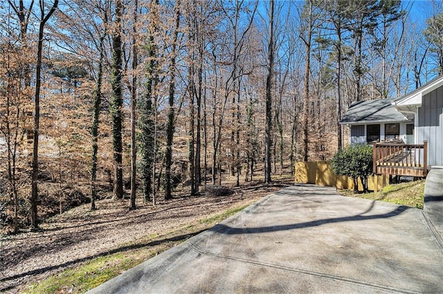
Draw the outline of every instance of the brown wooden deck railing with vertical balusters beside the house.
[[[428,142],[423,144],[372,143],[374,174],[426,177]]]

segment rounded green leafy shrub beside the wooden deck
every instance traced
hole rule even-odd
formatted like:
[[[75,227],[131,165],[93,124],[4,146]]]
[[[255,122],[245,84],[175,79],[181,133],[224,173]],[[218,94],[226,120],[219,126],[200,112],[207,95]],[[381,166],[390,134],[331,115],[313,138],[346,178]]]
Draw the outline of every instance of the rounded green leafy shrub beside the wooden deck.
[[[336,175],[346,175],[354,181],[354,192],[358,190],[360,177],[363,190],[368,191],[368,176],[372,174],[372,146],[354,145],[339,150],[332,158],[332,170]]]

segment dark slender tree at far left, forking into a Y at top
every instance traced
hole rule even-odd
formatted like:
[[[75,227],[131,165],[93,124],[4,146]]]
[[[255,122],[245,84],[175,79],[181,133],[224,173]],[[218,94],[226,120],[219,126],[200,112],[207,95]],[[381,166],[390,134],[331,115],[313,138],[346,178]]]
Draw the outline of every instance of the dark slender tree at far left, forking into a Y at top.
[[[58,0],[54,0],[48,13],[45,13],[45,1],[39,1],[39,39],[37,43],[37,62],[35,64],[35,97],[34,97],[34,133],[33,133],[33,176],[31,182],[30,219],[31,226],[38,228],[37,200],[38,200],[38,177],[39,177],[39,123],[40,123],[40,87],[42,86],[42,58],[44,26],[51,18],[58,6]]]

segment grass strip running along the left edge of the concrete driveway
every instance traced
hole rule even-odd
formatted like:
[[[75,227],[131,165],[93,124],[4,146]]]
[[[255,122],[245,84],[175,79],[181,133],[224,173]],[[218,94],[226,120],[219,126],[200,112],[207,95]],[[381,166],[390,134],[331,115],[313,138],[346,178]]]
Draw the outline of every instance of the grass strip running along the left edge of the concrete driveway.
[[[107,255],[90,259],[40,282],[30,284],[22,293],[84,293],[235,215],[247,206],[231,208],[223,213],[198,219],[192,224],[163,235],[154,233],[137,242],[124,244]]]

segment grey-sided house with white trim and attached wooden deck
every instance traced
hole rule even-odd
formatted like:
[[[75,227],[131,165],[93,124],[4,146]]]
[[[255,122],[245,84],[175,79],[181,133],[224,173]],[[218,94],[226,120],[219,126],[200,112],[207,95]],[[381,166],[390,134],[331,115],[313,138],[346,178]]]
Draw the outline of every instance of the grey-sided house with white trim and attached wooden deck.
[[[350,144],[374,143],[374,173],[426,176],[443,166],[443,75],[397,99],[357,101],[340,124]]]

